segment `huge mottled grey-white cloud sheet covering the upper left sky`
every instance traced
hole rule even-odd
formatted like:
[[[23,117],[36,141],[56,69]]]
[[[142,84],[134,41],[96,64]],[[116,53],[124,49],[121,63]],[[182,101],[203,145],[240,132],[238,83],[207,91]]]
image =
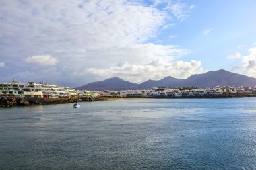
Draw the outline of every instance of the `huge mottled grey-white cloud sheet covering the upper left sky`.
[[[180,1],[159,3],[161,7],[128,0],[1,1],[0,52],[5,56],[1,60],[15,67],[6,66],[7,74],[1,72],[0,81],[17,75],[20,81],[67,84],[75,79],[73,86],[78,86],[94,81],[88,68],[106,69],[125,62],[146,65],[157,58],[174,62],[189,50],[151,40],[160,30],[185,19],[189,6]],[[55,68],[38,71],[38,65],[30,63]]]

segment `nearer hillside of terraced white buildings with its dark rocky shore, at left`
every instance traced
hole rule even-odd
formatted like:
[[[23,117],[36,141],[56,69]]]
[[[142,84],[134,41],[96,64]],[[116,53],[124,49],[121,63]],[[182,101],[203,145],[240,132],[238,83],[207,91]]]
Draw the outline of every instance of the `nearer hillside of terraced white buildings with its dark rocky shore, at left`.
[[[77,91],[44,82],[0,83],[0,107],[75,103],[99,99],[97,93]]]

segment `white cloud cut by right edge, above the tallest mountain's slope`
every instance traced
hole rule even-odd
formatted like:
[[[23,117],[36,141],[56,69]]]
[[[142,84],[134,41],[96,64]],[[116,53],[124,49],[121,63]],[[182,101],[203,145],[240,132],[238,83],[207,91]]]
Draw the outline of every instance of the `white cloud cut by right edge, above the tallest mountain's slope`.
[[[248,50],[249,55],[242,56],[239,65],[233,69],[241,70],[245,75],[256,77],[256,47]]]

